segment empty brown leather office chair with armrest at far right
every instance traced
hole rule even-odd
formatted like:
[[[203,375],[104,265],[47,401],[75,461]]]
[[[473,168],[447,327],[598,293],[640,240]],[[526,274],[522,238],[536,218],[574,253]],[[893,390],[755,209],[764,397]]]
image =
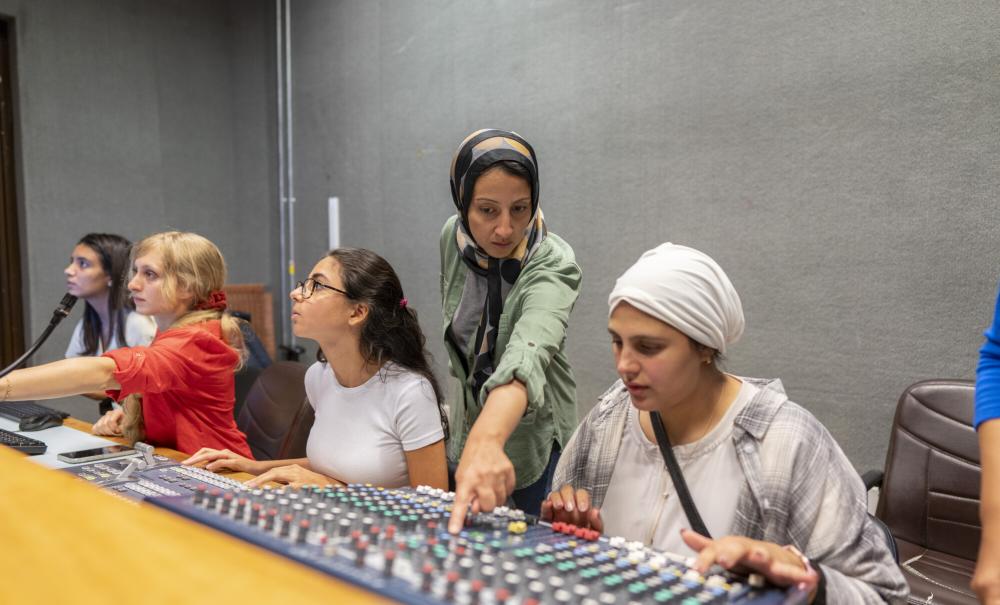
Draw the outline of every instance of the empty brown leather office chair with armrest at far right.
[[[896,539],[910,602],[973,604],[979,551],[975,384],[925,380],[903,391],[875,515]],[[866,484],[879,477],[866,473]]]

